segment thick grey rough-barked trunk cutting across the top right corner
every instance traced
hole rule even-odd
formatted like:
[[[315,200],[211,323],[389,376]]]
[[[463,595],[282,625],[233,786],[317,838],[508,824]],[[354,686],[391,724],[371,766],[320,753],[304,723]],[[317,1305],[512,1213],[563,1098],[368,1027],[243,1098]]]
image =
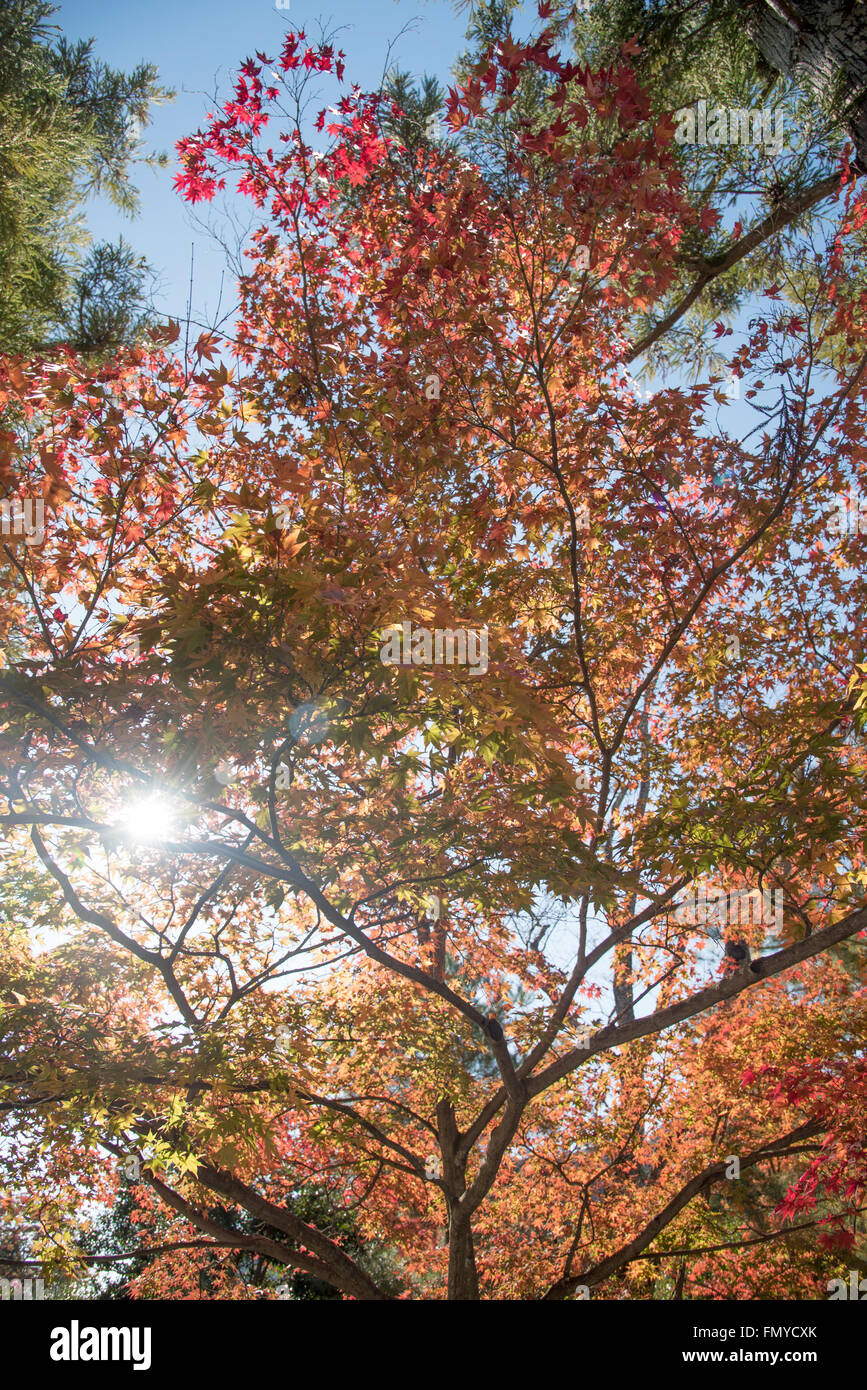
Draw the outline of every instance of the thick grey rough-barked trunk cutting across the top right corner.
[[[843,125],[867,174],[867,8],[863,0],[753,0],[748,28],[766,63],[820,101],[848,108]]]

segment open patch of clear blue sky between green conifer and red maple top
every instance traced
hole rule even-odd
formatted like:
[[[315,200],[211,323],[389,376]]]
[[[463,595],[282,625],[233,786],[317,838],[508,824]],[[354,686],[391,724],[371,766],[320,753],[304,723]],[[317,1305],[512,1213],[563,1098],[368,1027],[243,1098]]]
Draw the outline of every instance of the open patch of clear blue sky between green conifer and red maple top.
[[[450,0],[65,0],[54,17],[69,39],[94,38],[96,54],[113,67],[131,70],[154,63],[174,101],[156,108],[144,132],[144,147],[165,150],[170,167],[138,170],[142,211],[131,221],[103,199],[93,199],[88,220],[94,239],[121,234],[158,272],[156,307],[171,317],[186,316],[190,247],[195,246],[193,318],[211,321],[217,311],[226,257],[201,227],[208,210],[189,208],[172,189],[175,142],[190,135],[213,108],[214,90],[228,96],[229,83],[256,50],[272,57],[286,29],[318,33],[342,28],[336,47],[346,51],[346,82],[370,89],[382,78],[390,40],[408,29],[392,51],[392,63],[415,75],[435,74],[446,85],[450,67],[465,46],[465,17]],[[324,89],[325,95],[325,89]],[[329,96],[331,100],[331,96]],[[322,103],[325,104],[325,101]],[[236,200],[246,221],[250,208]],[[220,224],[217,213],[214,220]],[[225,274],[222,310],[233,302],[232,277]]]

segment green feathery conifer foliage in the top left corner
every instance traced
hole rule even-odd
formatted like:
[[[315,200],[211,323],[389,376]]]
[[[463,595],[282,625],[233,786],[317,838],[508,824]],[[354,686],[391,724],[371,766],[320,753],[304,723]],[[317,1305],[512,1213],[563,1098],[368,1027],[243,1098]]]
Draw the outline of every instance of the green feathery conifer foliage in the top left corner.
[[[107,67],[53,14],[44,0],[0,6],[0,349],[22,354],[57,338],[101,350],[135,329],[146,267],[122,242],[88,256],[83,203],[100,192],[136,211],[139,132],[171,96],[151,64]]]

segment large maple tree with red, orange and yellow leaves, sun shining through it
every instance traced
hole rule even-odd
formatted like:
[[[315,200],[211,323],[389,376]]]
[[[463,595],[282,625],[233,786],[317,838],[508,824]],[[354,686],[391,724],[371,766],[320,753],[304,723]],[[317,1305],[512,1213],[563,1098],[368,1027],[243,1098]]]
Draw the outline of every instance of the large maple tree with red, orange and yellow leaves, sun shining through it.
[[[841,158],[824,242],[714,329],[742,436],[718,377],[639,389],[720,214],[631,46],[556,40],[478,58],[408,158],[357,88],[311,149],[345,60],[289,33],[181,146],[185,197],[261,217],[232,335],[3,363],[3,481],[51,514],[4,538],[0,671],[6,1200],[49,1265],[118,1258],[76,1213],[129,1154],[143,1294],[246,1297],[245,1257],[365,1300],[809,1297],[860,1258],[864,541],[828,516],[867,202]],[[385,664],[404,621],[486,630],[486,670]],[[720,949],[711,883],[781,923]]]

